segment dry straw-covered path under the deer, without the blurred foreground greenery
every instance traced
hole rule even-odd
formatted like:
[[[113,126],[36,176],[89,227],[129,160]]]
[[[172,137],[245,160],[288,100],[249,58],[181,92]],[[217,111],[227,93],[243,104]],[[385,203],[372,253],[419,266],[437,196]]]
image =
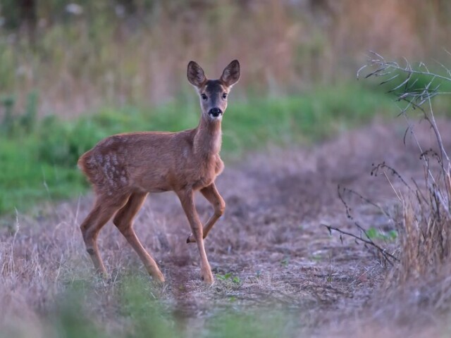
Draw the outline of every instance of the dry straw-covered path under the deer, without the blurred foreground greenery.
[[[443,126],[451,130],[450,123]],[[412,142],[402,144],[403,134],[403,125],[376,124],[313,150],[270,149],[228,165],[217,180],[226,214],[206,240],[216,273],[211,288],[199,279],[197,247],[185,244],[188,225],[175,195],[149,196],[135,229],[168,280],[157,298],[187,327],[195,323],[187,336],[226,308],[285,311],[297,318],[292,332],[310,334],[363,308],[383,280],[383,266],[362,244],[330,237],[323,224],[354,230],[337,197],[338,184],[381,206],[395,203],[385,177],[370,175],[372,163],[385,161],[407,180],[421,177],[418,150]],[[424,144],[433,142],[427,131],[417,135]],[[393,228],[376,208],[357,202],[350,200],[352,212],[363,225]],[[20,215],[16,235],[1,232],[0,299],[8,309],[1,325],[20,315],[33,330],[68,285],[92,280],[78,230],[91,203],[86,197],[61,204],[38,219]],[[200,195],[197,206],[205,220],[211,208]],[[99,246],[111,282],[87,296],[88,313],[109,330],[121,331],[115,286],[130,273],[144,276],[144,269],[111,224],[102,230]]]

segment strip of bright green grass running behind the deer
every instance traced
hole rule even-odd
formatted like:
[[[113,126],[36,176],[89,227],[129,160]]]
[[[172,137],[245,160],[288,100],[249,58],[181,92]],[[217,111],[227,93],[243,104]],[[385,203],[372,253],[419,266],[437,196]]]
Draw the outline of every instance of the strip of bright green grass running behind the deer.
[[[223,120],[223,157],[230,162],[269,144],[313,144],[375,115],[393,112],[381,92],[354,84],[323,87],[289,97],[237,101],[233,94]],[[0,213],[23,212],[36,204],[69,199],[88,184],[76,164],[100,139],[137,130],[178,131],[196,127],[199,104],[179,101],[154,108],[101,108],[78,120],[49,116],[31,130],[14,124],[0,136]]]

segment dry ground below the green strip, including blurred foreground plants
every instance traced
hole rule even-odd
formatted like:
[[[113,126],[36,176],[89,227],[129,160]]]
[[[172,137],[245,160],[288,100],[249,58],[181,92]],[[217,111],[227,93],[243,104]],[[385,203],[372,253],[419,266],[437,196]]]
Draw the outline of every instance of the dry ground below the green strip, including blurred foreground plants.
[[[451,127],[449,120],[439,124],[440,130]],[[416,136],[428,149],[433,132],[420,126]],[[421,182],[424,168],[414,140],[402,142],[404,128],[374,123],[321,145],[292,144],[229,164],[217,180],[226,213],[206,239],[213,287],[200,280],[197,247],[185,243],[190,230],[175,194],[149,196],[135,222],[166,277],[163,285],[149,279],[111,223],[99,236],[109,279],[94,275],[80,235],[92,196],[58,202],[39,217],[18,213],[0,232],[0,336],[399,337],[414,330],[426,337],[425,330],[433,329],[428,337],[447,337],[446,269],[441,282],[437,273],[418,275],[429,275],[428,262],[440,256],[400,252],[401,241],[419,234],[405,236],[393,187],[406,200],[409,194],[389,170],[393,185],[385,175],[369,174],[371,163],[386,161],[405,180]],[[451,135],[443,136],[449,149]],[[350,220],[336,197],[337,184],[374,204],[348,194]],[[206,220],[211,206],[198,198],[197,210]],[[429,231],[421,228],[428,223],[416,223],[424,215],[409,219],[410,231]],[[336,232],[330,236],[322,226],[358,235],[354,222],[402,262],[418,259],[390,268],[377,251]],[[398,236],[387,236],[392,233]],[[410,250],[430,245],[421,238],[419,245],[408,242]],[[408,278],[400,282],[392,274],[404,269]],[[444,311],[433,310],[437,300]]]

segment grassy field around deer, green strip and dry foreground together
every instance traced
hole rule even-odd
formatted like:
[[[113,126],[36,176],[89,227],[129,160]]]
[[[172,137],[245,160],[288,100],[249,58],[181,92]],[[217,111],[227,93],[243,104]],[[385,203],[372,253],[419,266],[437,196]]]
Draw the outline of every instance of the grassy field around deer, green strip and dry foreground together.
[[[61,202],[87,192],[75,163],[99,139],[117,132],[176,131],[197,125],[194,94],[190,101],[154,108],[101,108],[73,120],[36,119],[32,109],[13,115],[1,125],[1,184],[8,192],[2,195],[2,208],[5,214],[14,208],[18,212],[16,220],[2,218],[7,227],[0,233],[0,302],[7,311],[0,318],[0,337],[337,337],[333,330],[346,337],[351,330],[354,337],[380,337],[374,332],[385,331],[377,320],[386,327],[389,318],[390,334],[396,337],[410,330],[410,324],[400,324],[406,316],[430,330],[421,330],[420,337],[446,335],[447,279],[427,277],[430,271],[443,276],[443,270],[434,270],[442,265],[428,262],[446,261],[450,242],[435,245],[447,231],[440,227],[448,222],[435,217],[445,215],[446,209],[439,206],[440,212],[429,213],[435,207],[428,205],[409,214],[413,209],[395,199],[396,194],[407,196],[397,174],[385,173],[391,175],[396,194],[385,177],[369,175],[371,163],[390,161],[403,177],[424,176],[418,148],[412,137],[403,144],[405,125],[391,122],[398,111],[384,92],[346,84],[317,87],[298,96],[236,101],[231,96],[223,121],[228,170],[218,182],[228,213],[206,242],[214,287],[199,280],[196,248],[184,242],[187,229],[180,225],[186,220],[173,195],[152,196],[136,223],[167,277],[164,285],[149,282],[111,225],[100,238],[111,275],[108,280],[95,277],[82,254],[79,230],[90,197]],[[446,115],[448,102],[445,97],[435,101],[438,115]],[[419,115],[414,111],[412,116]],[[379,120],[375,127],[364,127],[374,118]],[[435,148],[431,128],[422,126],[416,136],[425,149]],[[439,120],[439,127],[448,130],[450,123]],[[450,144],[444,133],[445,148]],[[278,151],[268,151],[274,146]],[[437,177],[443,180],[449,174]],[[346,213],[351,209],[345,212],[335,198],[336,184],[357,187],[378,203],[353,201],[350,220]],[[443,189],[451,196],[449,185]],[[42,208],[44,204],[49,208]],[[376,211],[368,206],[376,206]],[[209,214],[202,202],[198,209],[203,219]],[[329,237],[321,226],[355,231],[354,220],[402,263],[387,269],[377,251],[352,239]],[[433,230],[431,224],[440,227]],[[424,247],[416,229],[433,234],[433,242],[426,241]],[[400,246],[403,251],[396,253]],[[411,278],[414,282],[407,283]],[[390,281],[388,289],[381,287],[384,281]],[[443,299],[445,310],[433,323],[421,317],[429,308],[423,303],[405,306],[418,294],[431,304],[437,297]],[[381,299],[383,304],[378,303]],[[356,308],[365,311],[357,314]]]

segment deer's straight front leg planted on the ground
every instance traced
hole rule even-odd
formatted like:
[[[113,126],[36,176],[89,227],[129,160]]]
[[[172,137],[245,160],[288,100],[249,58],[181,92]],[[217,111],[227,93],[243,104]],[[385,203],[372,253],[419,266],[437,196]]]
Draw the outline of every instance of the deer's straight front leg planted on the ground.
[[[200,261],[201,261],[201,273],[202,279],[207,284],[213,284],[214,278],[211,273],[211,268],[208,259],[206,258],[206,252],[204,248],[204,230],[202,229],[202,223],[200,223],[199,215],[197,215],[196,208],[194,206],[194,193],[192,190],[183,190],[177,192],[178,198],[185,211],[188,222],[191,226],[191,231],[194,239],[197,242],[197,248],[199,249]]]

